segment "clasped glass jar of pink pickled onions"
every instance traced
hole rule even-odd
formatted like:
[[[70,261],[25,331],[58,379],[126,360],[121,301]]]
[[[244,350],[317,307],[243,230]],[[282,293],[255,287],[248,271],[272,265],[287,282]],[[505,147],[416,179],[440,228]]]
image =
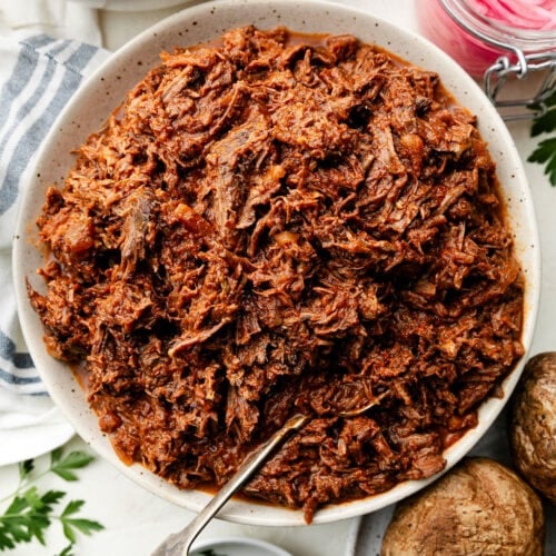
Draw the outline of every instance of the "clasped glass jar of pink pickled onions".
[[[556,90],[556,0],[416,0],[421,32],[475,78],[502,107],[546,110]],[[499,100],[508,78],[537,76],[528,98]],[[540,78],[539,78],[540,77]]]

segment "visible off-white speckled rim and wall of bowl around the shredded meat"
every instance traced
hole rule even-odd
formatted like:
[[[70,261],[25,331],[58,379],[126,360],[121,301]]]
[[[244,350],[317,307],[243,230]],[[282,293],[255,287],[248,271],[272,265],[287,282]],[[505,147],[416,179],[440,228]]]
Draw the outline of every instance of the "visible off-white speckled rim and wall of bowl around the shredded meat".
[[[532,342],[539,295],[538,236],[533,202],[518,152],[506,126],[480,88],[428,41],[360,11],[315,0],[221,0],[202,3],[188,8],[141,33],[112,56],[79,89],[44,141],[36,171],[32,172],[36,178],[26,187],[16,232],[14,280],[21,325],[31,356],[52,399],[73,424],[78,434],[128,477],[152,493],[192,510],[201,508],[207,503],[208,495],[197,490],[180,492],[138,465],[123,465],[107,437],[99,431],[97,419],[89,410],[72,374],[46,353],[41,324],[29,305],[24,288],[28,277],[41,289],[36,269],[42,265],[42,255],[33,247],[33,232],[30,230],[33,229],[33,222],[40,212],[47,186],[60,181],[72,165],[71,149],[81,145],[91,131],[105,122],[111,110],[123,99],[126,91],[142,79],[148,68],[158,64],[161,50],[171,50],[177,44],[202,42],[220,36],[226,29],[247,23],[264,29],[280,24],[301,32],[354,33],[366,42],[375,42],[415,64],[439,72],[446,88],[461,105],[478,116],[480,132],[488,141],[498,165],[498,177],[509,221],[515,231],[517,256],[526,277],[523,328],[526,349]],[[504,398],[485,403],[480,408],[478,426],[449,448],[446,454],[448,468],[467,454],[493,424],[514,389],[522,368],[523,363],[505,380]],[[381,495],[331,505],[316,514],[315,523],[334,522],[374,512],[415,493],[433,479],[404,483]],[[221,516],[255,525],[304,524],[300,512],[239,499],[228,503]]]

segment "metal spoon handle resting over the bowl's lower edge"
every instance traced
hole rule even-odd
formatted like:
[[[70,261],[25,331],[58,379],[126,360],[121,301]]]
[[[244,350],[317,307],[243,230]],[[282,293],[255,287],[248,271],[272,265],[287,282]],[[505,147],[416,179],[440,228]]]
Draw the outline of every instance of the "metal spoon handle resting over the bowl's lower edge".
[[[210,499],[197,517],[186,528],[170,535],[152,553],[152,556],[187,556],[192,542],[234,493],[247,483],[249,477],[265,463],[275,448],[281,445],[292,431],[299,430],[308,420],[309,417],[306,415],[296,415],[288,419],[265,444],[246,457],[231,479]]]

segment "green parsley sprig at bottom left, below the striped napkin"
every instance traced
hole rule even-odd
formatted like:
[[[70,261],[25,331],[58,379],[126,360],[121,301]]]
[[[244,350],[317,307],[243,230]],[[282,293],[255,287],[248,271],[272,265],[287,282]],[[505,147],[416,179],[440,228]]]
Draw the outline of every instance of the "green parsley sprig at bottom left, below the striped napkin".
[[[69,545],[60,556],[69,556],[77,540],[77,534],[90,535],[102,529],[102,525],[78,516],[85,500],[70,500],[61,513],[56,513],[58,505],[66,497],[62,490],[39,492],[37,481],[50,473],[67,481],[78,479],[76,469],[81,469],[92,461],[93,457],[85,451],[63,454],[57,448],[50,454],[50,465],[42,471],[33,474],[34,461],[29,459],[19,464],[19,484],[16,490],[0,503],[11,500],[0,515],[0,552],[13,549],[18,544],[37,539],[46,545],[44,533],[52,522],[59,522]]]

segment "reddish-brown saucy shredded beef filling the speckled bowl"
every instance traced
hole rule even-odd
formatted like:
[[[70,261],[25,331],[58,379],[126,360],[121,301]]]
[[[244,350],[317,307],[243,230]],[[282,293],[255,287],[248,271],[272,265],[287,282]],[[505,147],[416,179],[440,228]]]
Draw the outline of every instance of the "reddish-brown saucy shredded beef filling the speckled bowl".
[[[29,287],[120,457],[221,485],[311,413],[245,489],[308,522],[443,469],[523,355],[475,123],[350,36],[247,27],[162,53],[49,189],[47,292]]]

